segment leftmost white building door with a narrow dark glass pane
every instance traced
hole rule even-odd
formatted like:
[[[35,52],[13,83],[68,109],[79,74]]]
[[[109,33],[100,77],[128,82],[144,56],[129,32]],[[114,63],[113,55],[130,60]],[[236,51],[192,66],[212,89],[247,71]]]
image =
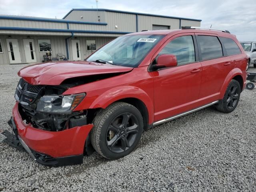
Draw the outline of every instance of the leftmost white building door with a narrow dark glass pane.
[[[10,63],[21,63],[20,48],[17,39],[6,39]]]

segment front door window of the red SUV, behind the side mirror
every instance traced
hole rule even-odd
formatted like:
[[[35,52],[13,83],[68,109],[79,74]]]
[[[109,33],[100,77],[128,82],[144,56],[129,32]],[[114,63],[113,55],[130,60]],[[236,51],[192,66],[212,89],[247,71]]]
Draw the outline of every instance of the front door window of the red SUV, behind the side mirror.
[[[194,62],[195,48],[192,36],[177,37],[163,48],[159,55],[162,54],[174,54],[178,65]]]

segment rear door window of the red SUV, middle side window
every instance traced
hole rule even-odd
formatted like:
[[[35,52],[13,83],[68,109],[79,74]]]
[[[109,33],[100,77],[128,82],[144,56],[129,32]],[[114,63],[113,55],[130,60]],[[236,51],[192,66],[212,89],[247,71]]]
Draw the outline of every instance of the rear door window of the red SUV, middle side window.
[[[204,35],[199,35],[197,37],[202,60],[223,56],[222,47],[217,37]]]

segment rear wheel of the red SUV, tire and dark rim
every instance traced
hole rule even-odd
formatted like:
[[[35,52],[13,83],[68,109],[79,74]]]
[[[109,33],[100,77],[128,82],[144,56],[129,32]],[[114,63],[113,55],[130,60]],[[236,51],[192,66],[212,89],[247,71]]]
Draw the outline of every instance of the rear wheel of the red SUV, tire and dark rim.
[[[224,94],[224,98],[219,100],[216,108],[220,112],[230,113],[235,110],[240,99],[240,84],[236,80],[231,80]]]

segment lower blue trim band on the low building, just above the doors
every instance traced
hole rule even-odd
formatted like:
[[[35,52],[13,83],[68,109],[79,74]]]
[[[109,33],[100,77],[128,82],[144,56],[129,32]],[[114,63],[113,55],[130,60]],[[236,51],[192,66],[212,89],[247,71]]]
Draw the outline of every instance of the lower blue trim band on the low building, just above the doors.
[[[133,33],[133,32],[122,32],[122,31],[90,31],[90,30],[44,29],[44,28],[23,28],[23,27],[0,27],[0,30],[69,32],[69,33],[99,33],[99,34],[128,34],[128,33]]]

